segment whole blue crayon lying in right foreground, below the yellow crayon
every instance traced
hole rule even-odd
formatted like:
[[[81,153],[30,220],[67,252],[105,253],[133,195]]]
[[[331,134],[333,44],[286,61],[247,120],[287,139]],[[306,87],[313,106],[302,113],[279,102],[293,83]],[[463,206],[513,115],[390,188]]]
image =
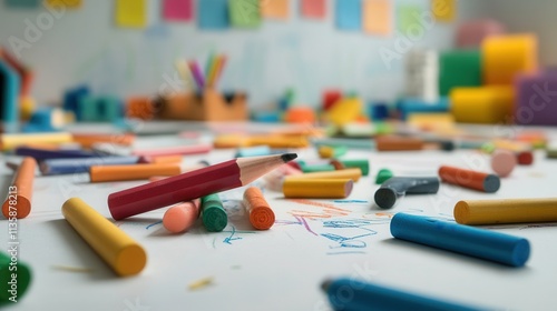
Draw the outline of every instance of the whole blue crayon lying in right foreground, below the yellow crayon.
[[[530,243],[524,238],[412,214],[395,214],[391,234],[512,267],[522,267],[530,255]]]

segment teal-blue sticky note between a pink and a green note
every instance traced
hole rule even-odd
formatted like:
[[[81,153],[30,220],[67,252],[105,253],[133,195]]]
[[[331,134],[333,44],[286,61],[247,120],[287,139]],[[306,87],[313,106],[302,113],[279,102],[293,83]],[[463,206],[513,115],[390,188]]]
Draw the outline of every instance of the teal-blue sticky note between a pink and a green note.
[[[197,2],[197,26],[201,29],[226,29],[229,27],[227,0],[203,0]]]

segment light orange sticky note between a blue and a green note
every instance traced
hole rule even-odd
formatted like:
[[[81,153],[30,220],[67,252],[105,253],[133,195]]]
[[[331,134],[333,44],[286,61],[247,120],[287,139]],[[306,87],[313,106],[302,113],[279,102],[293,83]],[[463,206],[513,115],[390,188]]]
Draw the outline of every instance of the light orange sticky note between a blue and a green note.
[[[381,36],[391,33],[391,0],[363,2],[363,29],[365,32]]]

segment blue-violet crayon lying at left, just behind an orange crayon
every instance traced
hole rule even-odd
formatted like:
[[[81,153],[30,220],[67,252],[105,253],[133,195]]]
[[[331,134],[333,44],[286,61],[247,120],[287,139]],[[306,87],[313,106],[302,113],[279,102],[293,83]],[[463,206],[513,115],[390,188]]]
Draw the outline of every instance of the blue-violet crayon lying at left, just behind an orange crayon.
[[[139,157],[101,157],[47,159],[39,169],[43,175],[72,174],[89,172],[91,165],[124,165],[139,162]]]

